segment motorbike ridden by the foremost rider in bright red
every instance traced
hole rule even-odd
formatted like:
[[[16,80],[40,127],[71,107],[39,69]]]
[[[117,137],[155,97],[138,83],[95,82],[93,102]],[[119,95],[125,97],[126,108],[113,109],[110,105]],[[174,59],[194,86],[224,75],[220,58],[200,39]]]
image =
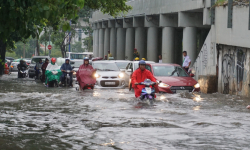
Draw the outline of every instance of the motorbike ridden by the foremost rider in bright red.
[[[139,83],[139,85],[145,85],[145,88],[141,91],[140,100],[149,100],[150,104],[153,105],[155,99],[155,88],[153,87],[156,83],[152,82],[150,79],[146,79],[144,82]]]

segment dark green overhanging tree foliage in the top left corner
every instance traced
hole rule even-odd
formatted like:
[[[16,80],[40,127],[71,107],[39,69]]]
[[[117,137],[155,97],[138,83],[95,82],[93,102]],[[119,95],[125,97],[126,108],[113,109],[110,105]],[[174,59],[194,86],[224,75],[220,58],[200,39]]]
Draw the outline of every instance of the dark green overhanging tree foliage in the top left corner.
[[[0,56],[5,59],[7,47],[38,37],[44,26],[58,28],[62,18],[75,18],[84,0],[0,0]],[[64,29],[69,29],[65,24]],[[37,44],[38,45],[38,44]],[[0,75],[4,64],[0,64]]]

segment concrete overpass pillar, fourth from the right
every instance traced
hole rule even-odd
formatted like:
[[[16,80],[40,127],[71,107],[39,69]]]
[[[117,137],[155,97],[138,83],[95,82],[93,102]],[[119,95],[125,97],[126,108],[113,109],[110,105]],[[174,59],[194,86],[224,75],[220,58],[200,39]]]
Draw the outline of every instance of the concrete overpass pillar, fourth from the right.
[[[135,28],[135,47],[137,48],[137,51],[140,54],[140,58],[146,58],[146,41],[145,41],[145,36],[146,36],[146,32],[145,32],[145,28],[144,27],[138,27]]]

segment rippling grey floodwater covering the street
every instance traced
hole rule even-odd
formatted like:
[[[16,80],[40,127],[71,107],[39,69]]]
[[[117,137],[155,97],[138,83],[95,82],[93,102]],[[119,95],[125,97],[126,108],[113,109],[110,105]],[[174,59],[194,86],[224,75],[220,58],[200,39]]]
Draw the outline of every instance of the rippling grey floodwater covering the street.
[[[248,98],[158,94],[138,105],[128,89],[46,88],[0,78],[0,149],[249,149]]]

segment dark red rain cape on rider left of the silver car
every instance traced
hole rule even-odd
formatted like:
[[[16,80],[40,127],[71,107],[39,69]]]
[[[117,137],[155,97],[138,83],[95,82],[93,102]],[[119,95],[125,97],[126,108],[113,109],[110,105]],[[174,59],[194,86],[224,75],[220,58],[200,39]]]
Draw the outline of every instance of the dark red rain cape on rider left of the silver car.
[[[86,84],[95,84],[96,79],[93,78],[95,69],[91,65],[81,65],[79,70],[76,72],[77,81],[80,87],[83,89]]]

